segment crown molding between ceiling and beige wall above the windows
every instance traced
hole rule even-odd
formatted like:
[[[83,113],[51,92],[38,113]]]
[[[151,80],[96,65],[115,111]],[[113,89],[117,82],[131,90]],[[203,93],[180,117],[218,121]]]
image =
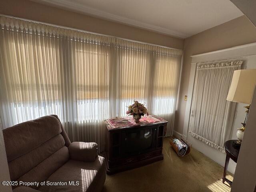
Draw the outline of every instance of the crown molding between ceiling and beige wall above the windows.
[[[115,14],[111,14],[108,12],[104,12],[102,10],[90,8],[90,7],[84,6],[82,4],[72,3],[68,0],[32,0],[32,1],[42,3],[42,4],[52,5],[55,7],[61,7],[61,8],[68,9],[68,10],[73,10],[73,11],[87,14],[90,16],[103,18],[103,19],[107,19],[107,20],[112,20],[112,21],[119,22],[122,24],[128,24],[131,26],[136,26],[138,28],[143,28],[143,29],[151,30],[154,32],[162,33],[162,34],[171,35],[171,36],[175,36],[175,37],[182,38],[182,39],[190,36],[189,34],[184,34],[182,32],[178,32],[175,30],[170,30],[170,29],[163,28],[160,26],[155,26],[155,25],[139,22],[136,20],[132,20],[129,18],[117,16]]]

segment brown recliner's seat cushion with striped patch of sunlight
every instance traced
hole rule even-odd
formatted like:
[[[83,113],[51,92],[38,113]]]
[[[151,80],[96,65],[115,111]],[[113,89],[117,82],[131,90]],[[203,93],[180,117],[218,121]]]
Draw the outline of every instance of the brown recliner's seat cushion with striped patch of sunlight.
[[[38,190],[42,192],[100,192],[105,182],[105,170],[105,161],[102,156],[97,156],[94,162],[69,160],[45,181],[46,183],[67,182],[68,185],[44,185]],[[70,181],[73,181],[73,186],[69,185]]]

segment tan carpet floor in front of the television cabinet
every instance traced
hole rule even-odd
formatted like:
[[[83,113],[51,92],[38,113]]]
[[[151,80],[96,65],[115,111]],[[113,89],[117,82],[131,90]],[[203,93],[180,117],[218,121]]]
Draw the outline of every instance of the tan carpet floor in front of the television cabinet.
[[[162,161],[107,175],[102,192],[230,192],[222,184],[223,167],[194,148],[178,157],[165,138],[163,154]]]

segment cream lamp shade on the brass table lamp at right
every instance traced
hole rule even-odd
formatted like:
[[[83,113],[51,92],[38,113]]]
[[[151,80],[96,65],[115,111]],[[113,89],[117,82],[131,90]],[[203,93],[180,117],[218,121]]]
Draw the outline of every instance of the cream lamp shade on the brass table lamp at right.
[[[233,73],[227,100],[251,104],[256,84],[256,69],[236,70]]]

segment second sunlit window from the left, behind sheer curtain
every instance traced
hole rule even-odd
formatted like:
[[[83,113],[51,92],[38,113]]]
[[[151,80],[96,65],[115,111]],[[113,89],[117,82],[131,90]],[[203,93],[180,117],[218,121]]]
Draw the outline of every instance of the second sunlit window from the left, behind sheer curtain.
[[[100,121],[109,114],[110,46],[72,42],[74,54],[75,100],[78,121]],[[104,110],[104,111],[102,111]]]

